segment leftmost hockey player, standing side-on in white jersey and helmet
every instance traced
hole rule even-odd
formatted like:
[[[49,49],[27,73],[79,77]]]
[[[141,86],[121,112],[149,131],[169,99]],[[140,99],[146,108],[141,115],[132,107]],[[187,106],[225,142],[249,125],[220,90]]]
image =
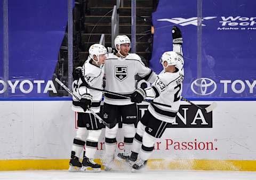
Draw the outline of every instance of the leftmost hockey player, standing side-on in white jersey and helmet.
[[[86,82],[95,88],[102,88],[104,67],[103,64],[107,58],[107,49],[101,44],[94,44],[89,49],[89,59],[85,61],[82,67],[82,73]],[[74,94],[80,99],[80,102],[73,97],[72,109],[78,112],[78,129],[73,141],[71,159],[69,162],[69,171],[101,171],[101,166],[93,161],[94,154],[98,147],[98,140],[103,125],[92,113],[99,114],[102,92],[86,88],[81,78],[74,81]],[[86,151],[83,156],[83,162],[79,157],[83,151],[86,142]]]

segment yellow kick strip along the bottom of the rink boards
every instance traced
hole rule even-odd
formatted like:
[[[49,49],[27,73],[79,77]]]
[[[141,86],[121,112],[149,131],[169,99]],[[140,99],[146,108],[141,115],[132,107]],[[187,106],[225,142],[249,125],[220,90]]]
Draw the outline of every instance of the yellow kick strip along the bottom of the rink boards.
[[[99,159],[95,162],[100,163]],[[120,162],[117,162],[120,163]],[[49,170],[68,169],[68,159],[23,159],[0,160],[0,170]],[[256,171],[256,160],[163,160],[150,159],[147,164],[152,170],[237,170]],[[103,167],[102,167],[103,169]]]

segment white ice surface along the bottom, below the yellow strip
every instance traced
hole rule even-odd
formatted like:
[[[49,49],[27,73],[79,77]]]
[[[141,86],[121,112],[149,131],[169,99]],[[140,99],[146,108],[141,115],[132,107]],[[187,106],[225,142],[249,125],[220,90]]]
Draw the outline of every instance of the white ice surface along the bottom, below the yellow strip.
[[[143,170],[137,173],[125,171],[101,171],[100,173],[70,173],[67,170],[0,171],[0,179],[36,180],[235,180],[256,179],[256,172],[201,171],[201,170]]]

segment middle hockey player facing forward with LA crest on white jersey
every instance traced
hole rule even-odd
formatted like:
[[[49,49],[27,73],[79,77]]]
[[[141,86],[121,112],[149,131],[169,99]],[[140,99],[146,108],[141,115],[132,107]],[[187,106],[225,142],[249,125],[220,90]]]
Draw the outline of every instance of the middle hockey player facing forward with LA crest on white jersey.
[[[129,53],[131,41],[125,35],[115,38],[115,53],[108,54],[105,64],[106,90],[131,95],[135,90],[135,75],[153,83],[157,75],[143,64],[137,54]],[[118,120],[122,117],[124,133],[124,151],[129,151],[135,135],[134,124],[137,123],[137,104],[130,99],[105,94],[103,105],[103,118],[110,128],[106,127],[105,147],[106,154],[103,158],[105,170],[110,170],[110,162],[114,160],[116,149],[116,135]]]

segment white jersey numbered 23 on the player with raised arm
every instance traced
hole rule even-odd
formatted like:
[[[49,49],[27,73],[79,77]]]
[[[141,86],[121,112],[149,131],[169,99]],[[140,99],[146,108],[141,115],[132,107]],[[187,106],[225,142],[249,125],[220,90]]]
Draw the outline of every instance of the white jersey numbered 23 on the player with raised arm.
[[[148,99],[154,99],[154,102],[171,106],[171,108],[157,104],[149,104],[148,106],[148,111],[155,118],[170,123],[174,122],[180,108],[180,95],[184,79],[181,55],[179,55],[179,62],[175,69],[175,72],[162,71],[153,85],[145,89]]]

